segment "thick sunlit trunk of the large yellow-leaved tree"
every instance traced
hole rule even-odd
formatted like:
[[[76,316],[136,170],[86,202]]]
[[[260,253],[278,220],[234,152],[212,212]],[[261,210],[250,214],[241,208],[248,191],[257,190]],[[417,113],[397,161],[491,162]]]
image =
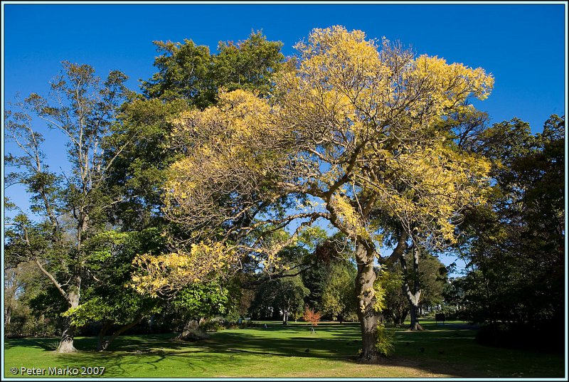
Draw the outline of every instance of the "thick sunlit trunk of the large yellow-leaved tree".
[[[356,261],[358,274],[356,275],[356,294],[358,298],[358,319],[361,325],[362,349],[360,361],[371,363],[379,359],[376,349],[377,325],[380,314],[375,312],[373,304],[376,302],[373,282],[376,280],[376,272],[373,270],[373,253],[366,250],[363,244],[358,244],[356,249]]]

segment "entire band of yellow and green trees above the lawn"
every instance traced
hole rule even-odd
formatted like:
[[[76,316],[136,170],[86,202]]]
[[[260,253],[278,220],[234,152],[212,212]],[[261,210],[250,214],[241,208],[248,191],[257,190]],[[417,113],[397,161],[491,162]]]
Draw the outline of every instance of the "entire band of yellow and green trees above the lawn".
[[[363,361],[386,320],[420,330],[421,304],[494,339],[563,332],[564,117],[489,125],[482,68],[341,26],[289,58],[260,32],[213,54],[155,44],[140,92],[63,62],[49,95],[7,108],[5,183],[33,214],[5,202],[7,328],[58,331],[65,353],[92,324],[106,350],[149,320],[195,338],[207,317],[310,307],[361,323]],[[46,163],[39,122],[70,171]],[[449,251],[468,264],[454,280]]]

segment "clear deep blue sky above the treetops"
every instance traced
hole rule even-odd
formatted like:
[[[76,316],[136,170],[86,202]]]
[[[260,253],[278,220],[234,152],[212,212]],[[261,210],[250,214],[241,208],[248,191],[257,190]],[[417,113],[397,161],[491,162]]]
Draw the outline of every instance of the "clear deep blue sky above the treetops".
[[[312,28],[343,25],[493,73],[492,94],[477,104],[493,122],[519,117],[538,132],[549,115],[565,114],[563,4],[3,5],[4,102],[16,92],[45,94],[61,60],[88,63],[102,76],[122,70],[138,90],[154,73],[152,41],[188,38],[216,51],[218,41],[262,29],[291,55]],[[65,169],[61,137],[45,135],[52,169]],[[25,200],[21,189],[6,194]]]

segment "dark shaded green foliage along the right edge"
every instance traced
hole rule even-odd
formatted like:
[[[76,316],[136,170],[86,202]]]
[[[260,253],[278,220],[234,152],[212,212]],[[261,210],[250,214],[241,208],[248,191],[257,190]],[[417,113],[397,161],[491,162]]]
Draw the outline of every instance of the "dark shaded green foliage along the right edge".
[[[563,330],[564,132],[553,115],[541,134],[514,119],[484,137],[494,193],[467,215],[469,272],[457,280],[472,321]]]

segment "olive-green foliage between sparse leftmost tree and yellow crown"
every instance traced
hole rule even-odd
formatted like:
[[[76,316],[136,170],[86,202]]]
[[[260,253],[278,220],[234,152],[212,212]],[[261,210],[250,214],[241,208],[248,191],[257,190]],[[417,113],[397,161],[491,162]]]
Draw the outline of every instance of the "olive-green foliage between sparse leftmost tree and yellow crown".
[[[110,161],[122,151],[109,168],[106,187],[116,197],[109,211],[113,222],[126,230],[162,226],[161,189],[165,170],[176,158],[171,139],[171,120],[188,107],[185,100],[163,102],[137,97],[125,103],[105,152]]]

